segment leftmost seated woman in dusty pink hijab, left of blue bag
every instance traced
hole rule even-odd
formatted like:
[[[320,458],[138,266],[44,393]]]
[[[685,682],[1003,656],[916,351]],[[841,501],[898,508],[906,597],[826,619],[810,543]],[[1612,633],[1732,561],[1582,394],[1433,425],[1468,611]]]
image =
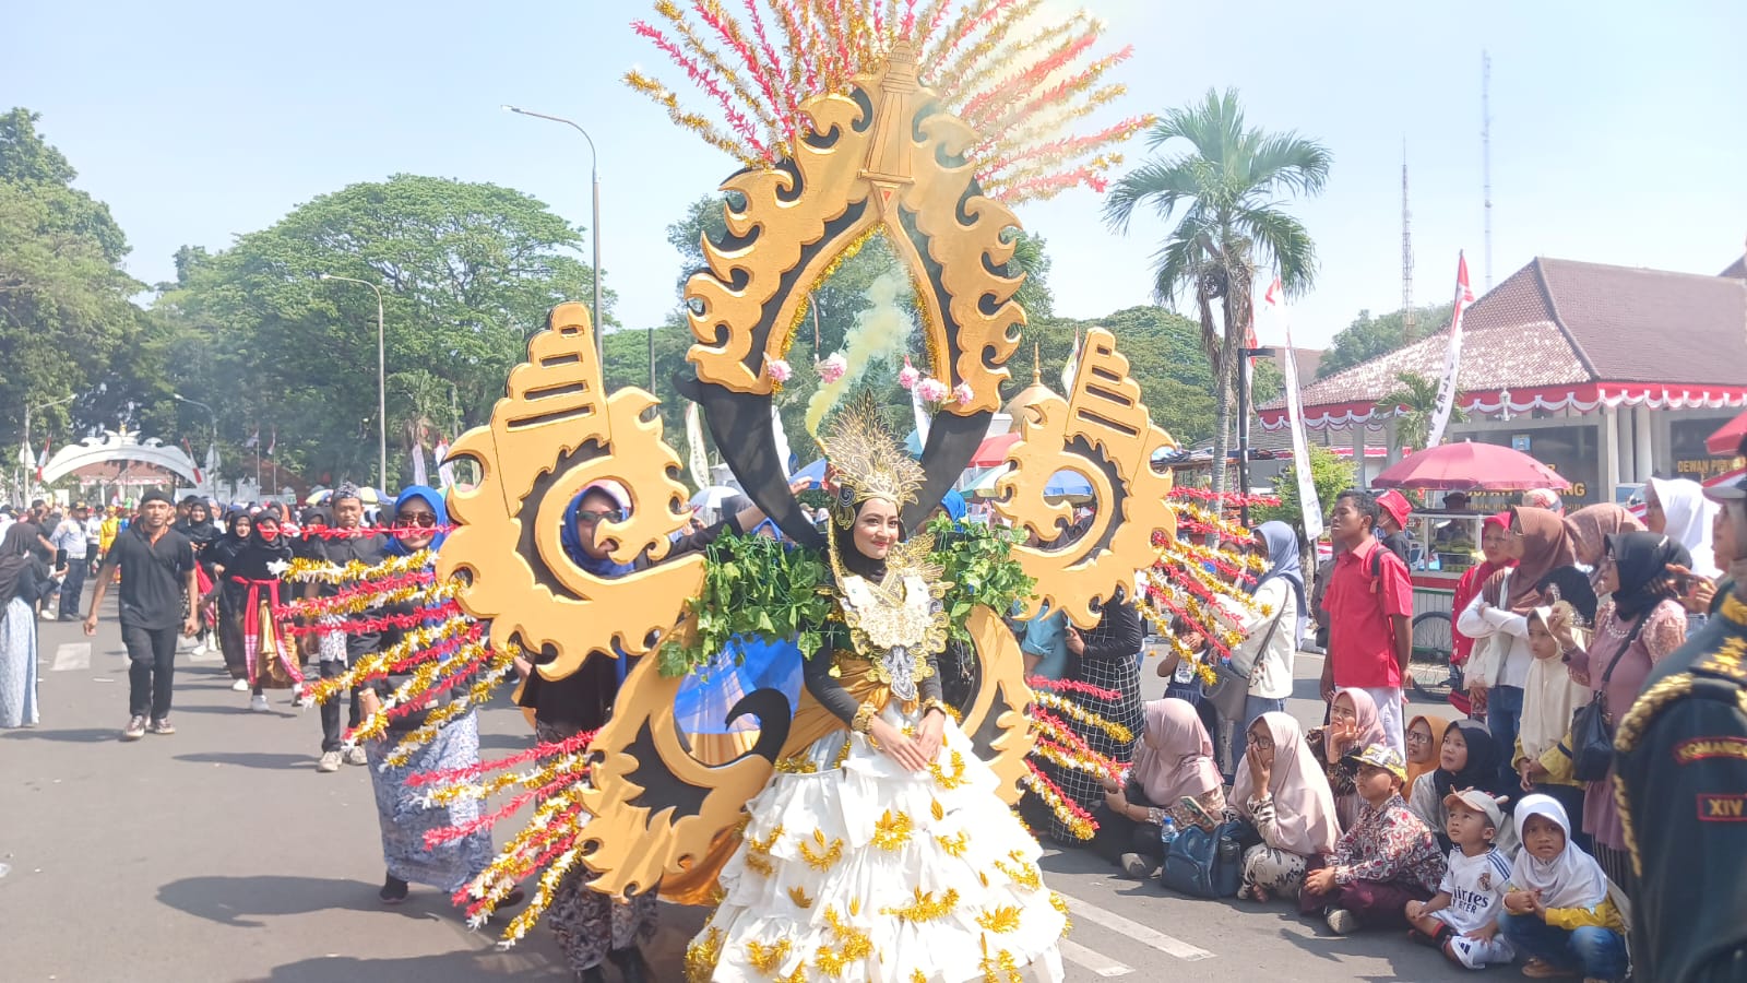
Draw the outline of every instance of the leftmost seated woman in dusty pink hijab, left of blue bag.
[[[1146,733],[1134,749],[1127,782],[1104,780],[1094,848],[1132,878],[1165,862],[1158,840],[1165,817],[1209,833],[1225,819],[1225,787],[1212,761],[1212,738],[1195,707],[1183,700],[1146,705]]]

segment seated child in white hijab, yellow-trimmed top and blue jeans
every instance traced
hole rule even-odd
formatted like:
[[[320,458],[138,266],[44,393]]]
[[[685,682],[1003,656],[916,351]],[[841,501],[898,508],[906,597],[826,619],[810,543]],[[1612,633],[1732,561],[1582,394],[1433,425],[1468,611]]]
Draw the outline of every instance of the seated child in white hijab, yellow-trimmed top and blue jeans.
[[[1583,976],[1604,983],[1626,974],[1625,920],[1607,899],[1607,875],[1571,843],[1571,819],[1551,796],[1516,803],[1523,848],[1511,864],[1499,929],[1529,957],[1523,976]]]

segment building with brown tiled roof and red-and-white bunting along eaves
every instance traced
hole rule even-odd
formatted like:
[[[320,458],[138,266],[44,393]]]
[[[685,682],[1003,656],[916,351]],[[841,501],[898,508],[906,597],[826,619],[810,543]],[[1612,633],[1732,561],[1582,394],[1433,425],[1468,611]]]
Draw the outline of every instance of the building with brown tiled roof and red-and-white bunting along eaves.
[[[1447,439],[1529,450],[1585,502],[1653,474],[1723,467],[1703,436],[1747,406],[1740,266],[1703,276],[1537,257],[1467,308],[1457,404],[1469,422]],[[1448,331],[1305,385],[1307,430],[1391,427],[1377,401],[1401,373],[1440,378],[1447,348]],[[1284,401],[1258,416],[1286,427]]]

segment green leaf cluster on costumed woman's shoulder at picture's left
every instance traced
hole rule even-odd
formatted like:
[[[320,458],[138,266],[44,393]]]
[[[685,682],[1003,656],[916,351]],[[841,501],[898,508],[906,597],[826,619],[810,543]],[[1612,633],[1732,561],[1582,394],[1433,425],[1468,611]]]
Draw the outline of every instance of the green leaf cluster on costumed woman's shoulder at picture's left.
[[[830,586],[832,572],[812,549],[763,535],[723,533],[704,553],[704,589],[685,602],[697,630],[662,644],[660,673],[687,675],[709,665],[718,652],[734,651],[735,635],[793,640],[802,658],[812,658],[825,644],[825,621],[835,607]],[[735,665],[742,658],[735,651]]]

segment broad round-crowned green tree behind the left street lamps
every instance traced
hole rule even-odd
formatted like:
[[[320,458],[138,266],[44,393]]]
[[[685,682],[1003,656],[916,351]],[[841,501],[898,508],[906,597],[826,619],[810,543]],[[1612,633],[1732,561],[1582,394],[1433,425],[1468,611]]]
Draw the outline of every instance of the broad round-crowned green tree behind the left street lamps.
[[[190,360],[171,359],[171,381],[217,394],[232,439],[276,429],[280,462],[311,479],[374,481],[376,296],[318,276],[383,290],[390,432],[449,432],[489,418],[549,308],[592,296],[582,243],[543,203],[491,184],[395,175],[323,194],[222,254],[178,254],[183,282],[159,308],[175,322],[168,348]],[[603,317],[613,324],[610,306]],[[390,485],[407,474],[407,439],[393,441]]]

